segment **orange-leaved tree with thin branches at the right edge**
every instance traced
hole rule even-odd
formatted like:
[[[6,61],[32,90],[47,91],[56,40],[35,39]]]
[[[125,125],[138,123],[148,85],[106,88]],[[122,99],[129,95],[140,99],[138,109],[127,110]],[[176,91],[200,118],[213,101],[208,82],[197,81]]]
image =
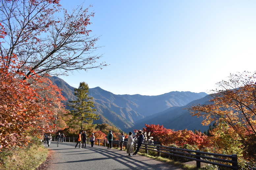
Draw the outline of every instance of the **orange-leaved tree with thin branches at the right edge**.
[[[217,85],[219,88],[213,90],[209,104],[197,104],[188,109],[192,116],[204,117],[204,125],[212,121],[221,126],[227,124],[246,146],[246,155],[255,158],[256,153],[250,148],[255,148],[252,141],[256,139],[256,73],[230,74],[227,81]]]

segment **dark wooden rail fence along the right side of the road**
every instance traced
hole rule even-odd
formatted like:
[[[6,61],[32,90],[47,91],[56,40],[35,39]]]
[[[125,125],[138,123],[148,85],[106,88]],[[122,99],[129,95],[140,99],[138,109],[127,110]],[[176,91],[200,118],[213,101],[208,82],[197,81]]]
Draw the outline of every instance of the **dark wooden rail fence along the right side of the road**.
[[[77,139],[74,137],[65,137],[64,141],[77,142]],[[90,142],[90,139],[87,138],[87,143],[89,144],[89,142]],[[94,142],[96,145],[99,145],[99,146],[100,146],[100,143],[102,143],[103,146],[107,145],[106,139],[95,139]],[[112,145],[116,145],[117,147],[120,147],[119,140],[113,140]],[[124,141],[124,146],[127,146],[127,141]],[[136,147],[137,147],[137,144],[134,143],[134,150],[136,150]],[[187,149],[181,149],[176,147],[152,145],[152,144],[146,144],[146,143],[142,144],[140,149],[145,149],[145,152],[147,154],[148,154],[148,151],[153,151],[153,152],[157,152],[158,156],[160,156],[161,154],[170,155],[172,159],[174,159],[175,161],[177,161],[178,158],[195,160],[197,168],[201,168],[201,162],[204,162],[212,165],[227,167],[232,170],[238,170],[237,155],[214,154],[209,152],[201,152],[200,150],[187,150]]]

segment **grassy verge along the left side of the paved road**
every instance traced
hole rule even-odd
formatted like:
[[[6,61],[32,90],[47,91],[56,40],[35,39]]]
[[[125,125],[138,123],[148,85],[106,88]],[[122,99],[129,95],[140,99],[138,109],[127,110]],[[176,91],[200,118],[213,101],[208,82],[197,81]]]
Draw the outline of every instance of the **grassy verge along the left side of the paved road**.
[[[35,142],[26,149],[0,152],[0,169],[34,170],[47,158],[48,150],[40,142]]]

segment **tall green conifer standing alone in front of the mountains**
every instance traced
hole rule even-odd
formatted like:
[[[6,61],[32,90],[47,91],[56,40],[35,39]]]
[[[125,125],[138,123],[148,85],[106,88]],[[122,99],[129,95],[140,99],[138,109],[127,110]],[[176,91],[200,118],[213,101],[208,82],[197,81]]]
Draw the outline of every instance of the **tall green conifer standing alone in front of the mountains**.
[[[92,109],[94,102],[92,101],[93,97],[89,97],[89,86],[85,82],[81,82],[78,88],[74,88],[74,95],[77,97],[77,100],[69,101],[72,103],[68,104],[73,110],[69,113],[72,116],[70,123],[80,125],[83,129],[83,123],[93,123],[93,120],[99,119],[99,115],[96,115],[96,109]]]

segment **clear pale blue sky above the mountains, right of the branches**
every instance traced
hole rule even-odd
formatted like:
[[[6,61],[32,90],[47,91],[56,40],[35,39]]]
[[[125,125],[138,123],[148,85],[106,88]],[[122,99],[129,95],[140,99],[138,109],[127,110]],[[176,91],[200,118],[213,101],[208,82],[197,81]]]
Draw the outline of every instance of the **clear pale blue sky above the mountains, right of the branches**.
[[[84,1],[61,0],[64,8]],[[60,76],[78,87],[114,94],[156,96],[171,91],[206,92],[230,73],[254,72],[254,0],[88,0],[95,12],[89,29],[104,46],[109,66]]]

